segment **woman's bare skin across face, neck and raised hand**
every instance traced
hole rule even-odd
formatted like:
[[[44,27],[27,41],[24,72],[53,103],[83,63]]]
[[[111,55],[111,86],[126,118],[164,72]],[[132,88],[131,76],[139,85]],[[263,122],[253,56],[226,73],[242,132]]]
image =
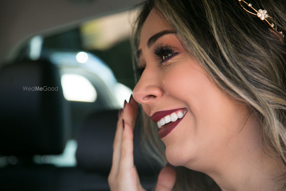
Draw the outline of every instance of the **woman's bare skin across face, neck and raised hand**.
[[[110,185],[125,185],[126,189],[127,185],[132,184],[134,187],[131,189],[129,186],[127,190],[143,189],[136,179],[131,142],[136,117],[134,113],[138,107],[135,103],[138,102],[148,116],[156,111],[187,108],[184,119],[162,138],[170,164],[206,173],[224,191],[279,190],[284,180],[275,180],[286,171],[282,168],[281,160],[275,160],[263,151],[258,116],[252,113],[247,104],[223,94],[200,64],[185,52],[175,34],[161,36],[148,47],[148,39],[163,30],[172,28],[153,9],[143,25],[138,48],[142,50],[140,63],[145,70],[133,90],[134,101],[131,99],[126,104],[118,120],[117,131],[121,134],[120,120],[123,118],[126,121],[123,135],[116,132],[114,141],[114,147],[121,149],[115,149],[114,153],[121,153],[121,158],[114,156],[113,166],[116,164],[116,169],[120,169],[118,164],[124,164],[125,170],[127,168],[129,171],[115,173],[112,167],[110,173],[110,177],[133,177],[134,180],[128,180],[132,183],[115,183],[114,179],[109,178]],[[178,54],[159,64],[161,60],[154,54],[154,48],[160,44],[168,44]],[[128,109],[130,106],[131,109]],[[125,139],[129,139],[129,142]],[[129,159],[124,158],[128,155],[126,153],[129,153]],[[171,190],[175,180],[174,170],[165,167],[159,175],[157,190],[161,189],[158,185],[164,187],[162,190]],[[114,187],[112,190],[124,189]]]

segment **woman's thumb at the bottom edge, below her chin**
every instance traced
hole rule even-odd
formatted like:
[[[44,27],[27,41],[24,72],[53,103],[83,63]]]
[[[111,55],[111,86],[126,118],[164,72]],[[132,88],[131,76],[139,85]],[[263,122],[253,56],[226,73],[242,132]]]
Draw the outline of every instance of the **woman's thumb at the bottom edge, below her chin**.
[[[171,191],[175,186],[176,178],[176,170],[167,165],[159,173],[155,191]]]

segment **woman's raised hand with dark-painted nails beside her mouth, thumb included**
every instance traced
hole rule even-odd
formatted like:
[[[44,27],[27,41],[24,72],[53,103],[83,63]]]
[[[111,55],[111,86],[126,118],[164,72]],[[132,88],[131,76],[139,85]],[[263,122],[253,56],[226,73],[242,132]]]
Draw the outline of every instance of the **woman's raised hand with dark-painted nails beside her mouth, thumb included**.
[[[112,166],[108,176],[111,191],[143,191],[133,158],[133,129],[138,103],[130,97],[118,115],[113,142]],[[155,191],[171,191],[176,182],[176,171],[166,166],[159,174]]]

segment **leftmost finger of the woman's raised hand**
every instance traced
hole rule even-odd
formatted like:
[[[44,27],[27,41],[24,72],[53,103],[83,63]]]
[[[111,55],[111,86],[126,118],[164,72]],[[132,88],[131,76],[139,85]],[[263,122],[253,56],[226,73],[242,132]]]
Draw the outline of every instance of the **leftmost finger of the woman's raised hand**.
[[[111,170],[110,170],[110,173],[113,175],[117,174],[118,169],[119,169],[122,134],[123,134],[123,121],[122,121],[122,116],[121,116],[119,117],[117,121],[116,132],[115,132],[114,142],[113,142],[112,165],[111,165]]]

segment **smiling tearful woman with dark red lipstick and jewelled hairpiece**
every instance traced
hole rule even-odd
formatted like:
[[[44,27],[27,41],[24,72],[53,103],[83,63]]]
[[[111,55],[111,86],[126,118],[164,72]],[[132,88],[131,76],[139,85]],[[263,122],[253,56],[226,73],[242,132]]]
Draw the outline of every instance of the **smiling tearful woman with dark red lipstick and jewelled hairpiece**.
[[[282,0],[149,0],[136,20],[133,97],[118,115],[112,191],[144,190],[133,162],[138,103],[163,168],[156,191],[286,188]]]

